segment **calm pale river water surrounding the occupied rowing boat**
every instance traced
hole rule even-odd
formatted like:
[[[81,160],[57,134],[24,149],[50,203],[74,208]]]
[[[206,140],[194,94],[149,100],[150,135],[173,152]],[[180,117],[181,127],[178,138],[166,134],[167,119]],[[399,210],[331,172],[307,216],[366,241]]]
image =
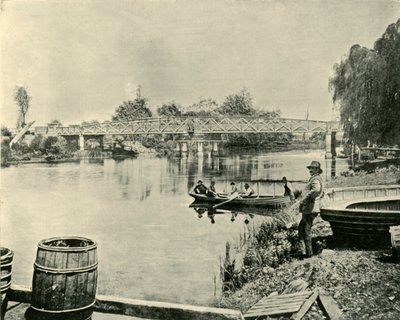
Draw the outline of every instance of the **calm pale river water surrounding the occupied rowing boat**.
[[[1,170],[1,246],[15,252],[13,283],[30,286],[37,243],[77,235],[98,243],[98,293],[133,299],[210,304],[226,241],[250,226],[245,215],[199,219],[187,195],[199,179],[248,181],[260,193],[307,180],[305,166],[330,162],[323,151],[292,151],[212,158],[133,159],[103,163],[31,164]],[[337,170],[346,170],[337,162]],[[301,183],[294,183],[301,186]],[[260,218],[261,217],[257,217]]]

